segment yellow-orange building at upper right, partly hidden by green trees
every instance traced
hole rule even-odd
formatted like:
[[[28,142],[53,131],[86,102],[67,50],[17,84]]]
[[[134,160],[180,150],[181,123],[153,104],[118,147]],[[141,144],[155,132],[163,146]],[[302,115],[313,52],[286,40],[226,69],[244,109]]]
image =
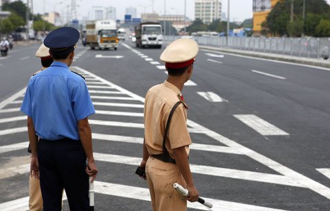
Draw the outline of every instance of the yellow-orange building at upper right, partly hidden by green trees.
[[[261,24],[266,20],[267,15],[280,0],[253,0],[253,31],[261,32]]]

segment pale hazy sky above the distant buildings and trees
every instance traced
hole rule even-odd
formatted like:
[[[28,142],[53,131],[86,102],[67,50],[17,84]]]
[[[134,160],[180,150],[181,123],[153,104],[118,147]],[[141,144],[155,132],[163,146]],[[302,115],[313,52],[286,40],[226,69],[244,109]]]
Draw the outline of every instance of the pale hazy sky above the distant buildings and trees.
[[[26,3],[28,0],[22,0]],[[30,0],[34,4],[34,13],[60,12],[61,16],[67,13],[67,3],[70,0]],[[219,0],[221,1],[221,0]],[[222,0],[222,12],[228,14],[228,1]],[[330,3],[330,0],[327,0]],[[137,16],[144,12],[155,12],[164,14],[166,3],[166,14],[184,14],[185,0],[76,0],[78,18],[88,16],[92,6],[112,6],[116,8],[117,19],[124,19],[125,9],[128,7],[137,8]],[[45,3],[45,4],[44,4]],[[44,7],[45,5],[45,7]],[[153,5],[153,7],[152,7]],[[153,8],[153,9],[152,9]],[[195,0],[186,0],[186,16],[191,20],[195,19]],[[252,0],[230,0],[230,21],[244,21],[252,18]]]

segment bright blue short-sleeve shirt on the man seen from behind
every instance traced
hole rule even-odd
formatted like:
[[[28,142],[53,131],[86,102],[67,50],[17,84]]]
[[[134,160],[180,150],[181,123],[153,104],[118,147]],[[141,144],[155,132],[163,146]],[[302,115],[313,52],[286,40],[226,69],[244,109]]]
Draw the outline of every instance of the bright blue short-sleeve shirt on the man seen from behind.
[[[32,118],[36,135],[47,140],[79,140],[77,121],[95,113],[85,80],[62,62],[30,78],[21,111]]]

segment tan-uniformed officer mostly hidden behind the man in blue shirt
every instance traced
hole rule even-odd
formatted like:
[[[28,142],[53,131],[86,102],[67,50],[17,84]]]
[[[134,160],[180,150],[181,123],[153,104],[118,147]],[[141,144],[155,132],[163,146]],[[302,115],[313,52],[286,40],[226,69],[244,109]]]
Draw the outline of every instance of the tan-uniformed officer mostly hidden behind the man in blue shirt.
[[[43,44],[41,44],[39,49],[36,51],[36,57],[40,58],[42,68],[34,73],[33,76],[49,67],[54,61],[50,55],[50,49],[45,47]],[[28,151],[31,153],[30,145]],[[40,182],[38,178],[32,176],[30,176],[29,181],[29,210],[43,210],[43,197],[41,196]]]

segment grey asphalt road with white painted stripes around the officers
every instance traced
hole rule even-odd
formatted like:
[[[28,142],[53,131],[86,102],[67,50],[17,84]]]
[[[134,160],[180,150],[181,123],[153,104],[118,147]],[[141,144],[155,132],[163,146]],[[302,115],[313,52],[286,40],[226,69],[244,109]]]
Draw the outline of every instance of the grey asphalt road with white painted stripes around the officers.
[[[28,133],[18,110],[40,66],[38,47],[15,46],[0,59],[0,210],[28,210]],[[161,53],[129,40],[118,51],[76,49],[72,70],[85,75],[97,110],[89,118],[100,170],[96,210],[151,210],[134,172],[144,95],[166,79]],[[329,82],[329,69],[199,51],[182,92],[193,177],[213,210],[330,210]]]

